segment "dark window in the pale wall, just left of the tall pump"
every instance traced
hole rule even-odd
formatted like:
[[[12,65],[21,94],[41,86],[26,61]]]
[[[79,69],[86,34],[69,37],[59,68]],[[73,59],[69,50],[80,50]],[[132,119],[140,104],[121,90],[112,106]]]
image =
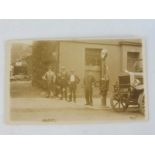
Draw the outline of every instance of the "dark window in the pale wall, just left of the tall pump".
[[[101,49],[87,48],[85,52],[86,66],[100,66],[101,65]]]

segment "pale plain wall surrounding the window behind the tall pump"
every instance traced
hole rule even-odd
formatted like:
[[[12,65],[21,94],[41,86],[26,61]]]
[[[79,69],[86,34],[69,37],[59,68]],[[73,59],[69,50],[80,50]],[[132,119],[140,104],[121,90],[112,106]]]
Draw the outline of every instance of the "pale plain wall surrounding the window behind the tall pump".
[[[69,71],[74,69],[81,81],[78,85],[78,95],[83,95],[83,78],[85,74],[85,49],[99,48],[107,49],[107,65],[110,73],[110,91],[112,91],[113,84],[118,78],[121,71],[121,50],[119,45],[102,45],[80,42],[60,42],[59,47],[59,67],[65,66]],[[69,58],[68,58],[69,57]],[[99,95],[99,88],[94,90],[95,96]]]

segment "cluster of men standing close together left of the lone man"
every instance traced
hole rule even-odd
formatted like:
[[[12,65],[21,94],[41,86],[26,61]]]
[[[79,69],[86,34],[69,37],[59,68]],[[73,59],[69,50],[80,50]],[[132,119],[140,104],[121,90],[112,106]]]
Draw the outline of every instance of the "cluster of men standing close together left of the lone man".
[[[65,99],[69,102],[76,102],[76,88],[80,79],[75,75],[73,70],[68,74],[65,67],[62,67],[61,71],[56,75],[55,72],[52,71],[52,67],[49,66],[43,79],[47,83],[47,97],[56,96],[61,100]]]

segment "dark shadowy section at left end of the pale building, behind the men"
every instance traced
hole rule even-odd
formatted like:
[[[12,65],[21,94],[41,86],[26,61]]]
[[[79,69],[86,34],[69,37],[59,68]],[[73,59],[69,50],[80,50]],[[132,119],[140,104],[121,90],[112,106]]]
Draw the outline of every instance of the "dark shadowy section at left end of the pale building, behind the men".
[[[35,41],[32,47],[32,85],[45,88],[42,76],[49,65],[58,71],[58,41]]]

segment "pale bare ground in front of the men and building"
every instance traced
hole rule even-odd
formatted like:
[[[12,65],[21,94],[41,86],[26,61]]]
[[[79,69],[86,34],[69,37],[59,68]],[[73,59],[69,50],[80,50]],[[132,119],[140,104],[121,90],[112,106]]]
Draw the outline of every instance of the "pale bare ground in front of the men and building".
[[[107,99],[107,107],[101,106],[99,97],[93,98],[93,106],[86,106],[84,98],[77,98],[76,103],[46,98],[45,92],[22,81],[11,83],[11,89],[11,122],[95,123],[144,120],[144,116],[136,108],[114,112],[110,106],[110,98]]]

